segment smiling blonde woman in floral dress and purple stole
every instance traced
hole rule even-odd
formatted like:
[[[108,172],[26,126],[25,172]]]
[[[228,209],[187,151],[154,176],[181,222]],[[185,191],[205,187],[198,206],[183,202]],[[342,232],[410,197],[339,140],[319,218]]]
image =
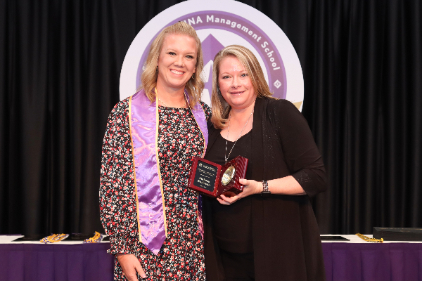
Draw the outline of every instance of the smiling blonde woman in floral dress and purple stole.
[[[151,45],[141,90],[110,113],[100,209],[115,280],[205,280],[198,193],[187,187],[191,159],[207,145],[202,70],[193,27],[166,27]]]

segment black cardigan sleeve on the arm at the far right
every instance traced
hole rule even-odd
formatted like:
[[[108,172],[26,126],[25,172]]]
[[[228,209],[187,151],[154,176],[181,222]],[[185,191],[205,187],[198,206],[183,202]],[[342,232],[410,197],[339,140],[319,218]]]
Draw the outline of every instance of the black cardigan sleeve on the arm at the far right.
[[[276,126],[283,155],[293,178],[309,197],[325,191],[324,163],[305,117],[288,100],[274,100],[269,103],[268,112]]]

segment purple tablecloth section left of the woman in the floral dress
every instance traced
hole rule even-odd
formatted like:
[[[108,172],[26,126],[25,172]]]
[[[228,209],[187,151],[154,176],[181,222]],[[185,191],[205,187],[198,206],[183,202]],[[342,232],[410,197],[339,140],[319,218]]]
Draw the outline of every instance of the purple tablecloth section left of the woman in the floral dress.
[[[108,243],[0,244],[0,280],[113,280]]]

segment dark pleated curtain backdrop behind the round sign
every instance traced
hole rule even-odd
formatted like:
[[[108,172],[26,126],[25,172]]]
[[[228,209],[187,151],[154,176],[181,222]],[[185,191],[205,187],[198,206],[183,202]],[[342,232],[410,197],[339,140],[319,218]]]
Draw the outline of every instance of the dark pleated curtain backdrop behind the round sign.
[[[1,234],[103,231],[101,145],[124,55],[178,2],[0,0]],[[321,233],[421,227],[421,1],[244,3],[298,52],[329,178],[313,200]]]

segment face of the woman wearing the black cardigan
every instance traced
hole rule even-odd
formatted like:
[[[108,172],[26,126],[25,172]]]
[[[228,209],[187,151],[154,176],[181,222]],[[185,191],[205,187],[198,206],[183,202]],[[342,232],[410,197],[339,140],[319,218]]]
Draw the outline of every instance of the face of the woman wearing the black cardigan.
[[[248,71],[234,56],[223,58],[220,62],[218,84],[231,108],[244,109],[255,102],[255,89]]]

